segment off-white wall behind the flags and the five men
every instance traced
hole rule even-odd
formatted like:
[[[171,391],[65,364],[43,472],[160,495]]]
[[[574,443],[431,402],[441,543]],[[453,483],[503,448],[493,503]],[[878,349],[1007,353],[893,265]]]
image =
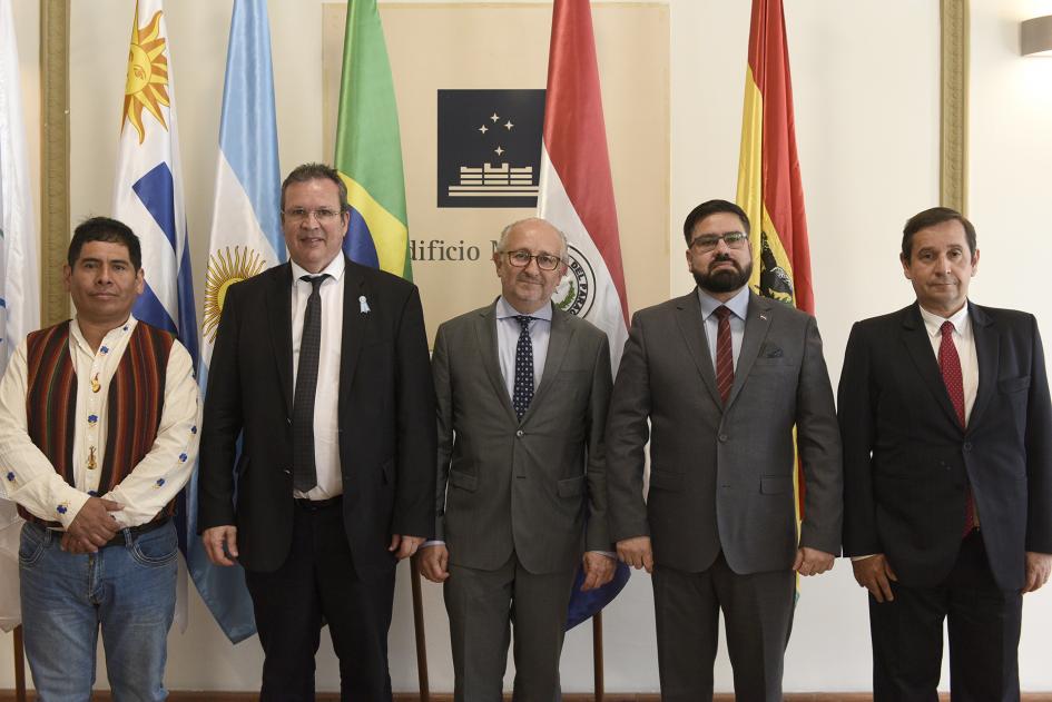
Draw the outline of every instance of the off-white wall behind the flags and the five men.
[[[907,304],[911,288],[896,260],[902,223],[936,204],[938,194],[938,3],[935,0],[785,0],[799,156],[807,198],[815,290],[826,359],[836,383],[851,324]],[[16,29],[39,171],[38,10],[18,1]],[[271,0],[277,119],[283,170],[325,159],[321,134],[318,2]],[[169,0],[187,211],[198,290],[205,270],[215,145],[230,1]],[[696,204],[733,199],[737,175],[749,3],[669,0],[671,19],[670,295],[691,285],[679,223]],[[971,216],[982,266],[973,297],[1022,307],[1052,329],[1046,299],[1048,202],[1052,178],[1052,60],[1019,56],[1019,21],[1052,12],[1048,0],[972,2]],[[130,0],[72,3],[73,219],[107,211],[119,125]],[[636,47],[626,51],[662,50]],[[395,76],[397,80],[397,76]],[[615,174],[615,178],[618,174]],[[198,299],[200,299],[198,294]],[[439,320],[430,320],[436,324]],[[1052,334],[1052,333],[1049,333]],[[436,586],[424,584],[432,688],[452,689],[448,625]],[[395,690],[415,689],[412,614],[400,570],[391,632]],[[1021,676],[1026,690],[1052,690],[1042,630],[1052,594],[1025,599]],[[650,582],[636,575],[606,615],[607,689],[658,689]],[[591,684],[591,632],[571,632],[563,656],[567,691]],[[338,674],[331,646],[319,655],[319,689]],[[10,635],[0,635],[0,688],[12,685]],[[262,656],[249,640],[230,646],[196,595],[186,634],[173,633],[168,684],[174,689],[252,690]],[[105,672],[99,673],[105,680]],[[805,582],[786,664],[792,691],[867,690],[869,646],[864,593],[846,562]],[[725,654],[717,686],[731,689]]]

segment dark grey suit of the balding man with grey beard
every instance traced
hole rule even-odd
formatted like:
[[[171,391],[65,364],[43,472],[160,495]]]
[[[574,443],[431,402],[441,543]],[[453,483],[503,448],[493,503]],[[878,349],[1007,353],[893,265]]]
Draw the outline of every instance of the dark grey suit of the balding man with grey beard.
[[[612,551],[603,421],[610,352],[591,324],[553,310],[540,385],[520,422],[498,357],[495,306],[443,324],[434,534],[445,584],[458,700],[498,700],[515,625],[515,698],[559,694],[567,604],[582,551]],[[586,536],[587,522],[587,536]]]

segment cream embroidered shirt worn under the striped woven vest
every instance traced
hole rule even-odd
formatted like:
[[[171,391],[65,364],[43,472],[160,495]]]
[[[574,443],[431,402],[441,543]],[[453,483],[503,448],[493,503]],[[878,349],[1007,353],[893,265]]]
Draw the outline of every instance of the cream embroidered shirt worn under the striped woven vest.
[[[42,520],[69,527],[88,497],[97,495],[106,457],[109,385],[136,324],[135,317],[129,317],[108,332],[98,350],[85,339],[76,319],[69,325],[69,354],[77,374],[75,485],[56,473],[29,438],[27,344],[23,340],[18,345],[0,380],[0,497],[17,502]],[[151,521],[189,481],[197,458],[199,424],[194,364],[186,348],[175,342],[165,369],[165,402],[157,438],[131,473],[101,495],[124,505],[124,510],[111,513],[121,527]]]

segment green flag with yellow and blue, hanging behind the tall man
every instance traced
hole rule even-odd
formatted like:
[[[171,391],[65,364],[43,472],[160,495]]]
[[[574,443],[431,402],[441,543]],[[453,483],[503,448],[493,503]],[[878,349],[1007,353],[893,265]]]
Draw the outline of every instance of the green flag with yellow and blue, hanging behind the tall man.
[[[351,202],[344,251],[412,279],[399,110],[376,0],[347,2],[334,165]]]

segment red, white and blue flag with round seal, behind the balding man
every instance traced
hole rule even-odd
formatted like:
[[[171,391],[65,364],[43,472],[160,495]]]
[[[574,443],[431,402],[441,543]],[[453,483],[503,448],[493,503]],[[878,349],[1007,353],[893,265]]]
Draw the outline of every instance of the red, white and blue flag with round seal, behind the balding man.
[[[628,303],[588,0],[556,0],[552,10],[538,216],[567,235],[571,279],[589,284],[571,286],[568,308],[607,333],[617,373],[628,338]],[[618,563],[610,583],[581,592],[579,570],[567,627],[597,614],[628,575],[628,566]]]

